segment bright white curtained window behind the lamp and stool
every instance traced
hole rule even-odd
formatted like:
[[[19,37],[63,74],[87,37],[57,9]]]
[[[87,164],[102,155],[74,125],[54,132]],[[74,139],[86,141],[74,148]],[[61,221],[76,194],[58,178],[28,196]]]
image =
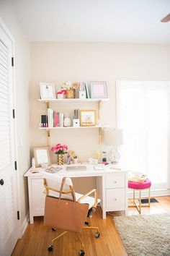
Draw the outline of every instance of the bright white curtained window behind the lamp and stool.
[[[169,188],[170,82],[117,81],[117,127],[125,131],[122,163]]]

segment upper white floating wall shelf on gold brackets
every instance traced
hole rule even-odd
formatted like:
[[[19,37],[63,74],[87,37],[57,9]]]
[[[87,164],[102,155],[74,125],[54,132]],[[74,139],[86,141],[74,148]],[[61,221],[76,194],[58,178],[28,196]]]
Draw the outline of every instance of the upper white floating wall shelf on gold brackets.
[[[53,99],[38,99],[38,101],[42,103],[63,103],[63,102],[102,102],[102,101],[109,101],[109,98],[86,98],[86,99],[81,99],[81,98],[53,98]]]

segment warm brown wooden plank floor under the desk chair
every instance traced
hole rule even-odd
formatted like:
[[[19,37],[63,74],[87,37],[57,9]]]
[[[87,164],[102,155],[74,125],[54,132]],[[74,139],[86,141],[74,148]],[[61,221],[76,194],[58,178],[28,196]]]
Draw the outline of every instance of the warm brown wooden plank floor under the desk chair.
[[[170,213],[170,197],[155,197],[158,203],[151,203],[151,208],[143,208],[142,214]],[[112,214],[112,213],[110,213]],[[115,229],[113,216],[107,214],[107,219],[102,219],[101,208],[93,213],[91,226],[98,226],[101,236],[97,239],[95,231],[82,231],[80,236],[84,242],[86,256],[127,256],[120,236]],[[129,208],[128,215],[138,215],[138,210]],[[43,218],[35,217],[35,223],[29,224],[27,230],[19,239],[12,256],[75,256],[79,255],[81,244],[74,233],[69,232],[54,243],[53,252],[48,252],[51,239],[61,232],[51,231],[43,226]]]

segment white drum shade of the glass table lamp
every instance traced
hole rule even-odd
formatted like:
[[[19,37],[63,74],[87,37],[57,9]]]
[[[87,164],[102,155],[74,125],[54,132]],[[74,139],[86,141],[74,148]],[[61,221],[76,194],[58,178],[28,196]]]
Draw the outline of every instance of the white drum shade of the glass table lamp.
[[[122,129],[104,129],[105,145],[122,145],[123,132]]]

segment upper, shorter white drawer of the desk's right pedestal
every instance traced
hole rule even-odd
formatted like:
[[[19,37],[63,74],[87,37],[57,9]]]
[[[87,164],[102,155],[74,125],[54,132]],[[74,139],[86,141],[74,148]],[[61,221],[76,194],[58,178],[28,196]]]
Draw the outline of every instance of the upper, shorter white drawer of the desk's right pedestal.
[[[125,187],[125,174],[109,174],[106,176],[106,188],[116,189]]]

